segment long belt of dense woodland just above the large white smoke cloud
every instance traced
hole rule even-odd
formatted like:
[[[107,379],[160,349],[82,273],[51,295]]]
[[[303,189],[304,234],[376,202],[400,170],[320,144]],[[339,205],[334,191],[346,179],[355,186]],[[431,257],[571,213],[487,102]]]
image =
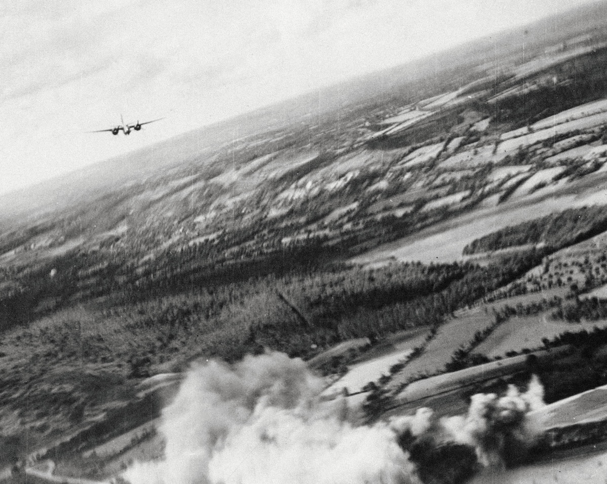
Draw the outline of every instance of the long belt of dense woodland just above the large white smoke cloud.
[[[45,348],[46,357],[127,361],[133,376],[148,374],[176,354],[234,361],[270,348],[311,357],[349,338],[376,341],[399,329],[440,324],[540,260],[541,253],[531,251],[489,267],[413,263],[374,271],[293,270],[101,309],[103,322],[86,328],[69,311],[58,312],[49,324],[19,332],[16,343]],[[83,331],[73,331],[80,324]]]

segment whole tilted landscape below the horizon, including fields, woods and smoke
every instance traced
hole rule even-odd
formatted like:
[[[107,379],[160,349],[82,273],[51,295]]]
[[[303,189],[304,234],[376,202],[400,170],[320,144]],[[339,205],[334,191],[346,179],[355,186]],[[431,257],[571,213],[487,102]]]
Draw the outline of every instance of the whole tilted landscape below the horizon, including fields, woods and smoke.
[[[607,482],[607,4],[550,13],[0,195],[0,482]]]

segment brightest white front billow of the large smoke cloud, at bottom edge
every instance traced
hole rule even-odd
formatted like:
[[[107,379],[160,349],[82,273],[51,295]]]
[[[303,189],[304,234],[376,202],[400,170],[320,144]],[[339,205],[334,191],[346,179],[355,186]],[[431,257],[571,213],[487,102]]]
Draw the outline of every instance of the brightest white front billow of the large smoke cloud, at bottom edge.
[[[274,408],[231,432],[209,463],[211,482],[224,484],[417,482],[412,472],[385,425],[354,427]]]

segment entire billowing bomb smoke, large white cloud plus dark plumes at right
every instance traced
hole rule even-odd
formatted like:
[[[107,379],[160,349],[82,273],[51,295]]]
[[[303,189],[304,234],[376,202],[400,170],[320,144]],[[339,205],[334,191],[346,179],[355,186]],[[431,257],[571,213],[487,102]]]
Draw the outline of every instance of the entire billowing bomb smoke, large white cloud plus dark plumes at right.
[[[419,409],[367,426],[353,422],[345,398],[321,402],[324,383],[299,358],[270,353],[233,366],[211,361],[191,369],[163,412],[164,460],[136,463],[124,478],[132,484],[418,484],[427,476],[420,456],[433,449],[455,445],[472,455],[472,468],[474,452],[482,465],[502,465],[511,443],[535,442],[526,413],[541,405],[538,385],[526,394],[511,388],[501,398],[475,395],[466,417],[437,420]]]

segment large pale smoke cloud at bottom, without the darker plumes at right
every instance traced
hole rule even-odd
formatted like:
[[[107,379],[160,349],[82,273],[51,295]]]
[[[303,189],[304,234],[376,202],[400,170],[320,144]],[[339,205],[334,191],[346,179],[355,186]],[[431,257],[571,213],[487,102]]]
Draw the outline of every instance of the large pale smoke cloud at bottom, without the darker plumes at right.
[[[163,414],[165,459],[132,484],[416,483],[387,424],[355,426],[300,359],[273,353],[189,372]]]

